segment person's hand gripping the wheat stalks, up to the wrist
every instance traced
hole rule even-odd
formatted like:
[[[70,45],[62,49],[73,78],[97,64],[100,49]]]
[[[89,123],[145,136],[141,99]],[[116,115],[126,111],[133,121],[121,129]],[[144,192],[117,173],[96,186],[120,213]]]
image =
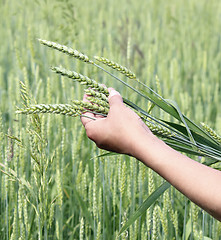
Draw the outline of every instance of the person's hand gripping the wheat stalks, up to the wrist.
[[[110,110],[107,117],[86,112],[84,115],[96,120],[81,117],[82,124],[87,136],[99,148],[134,156],[135,145],[141,141],[142,136],[153,134],[141,118],[124,105],[121,95],[116,90],[109,88],[108,91]],[[86,101],[86,96],[84,100]]]

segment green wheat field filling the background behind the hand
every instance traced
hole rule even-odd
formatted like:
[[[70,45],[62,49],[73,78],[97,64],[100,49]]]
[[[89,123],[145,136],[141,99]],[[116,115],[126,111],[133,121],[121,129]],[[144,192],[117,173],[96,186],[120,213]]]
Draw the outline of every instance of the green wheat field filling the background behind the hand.
[[[164,180],[129,156],[105,156],[79,117],[16,113],[27,100],[82,99],[83,86],[50,70],[60,65],[149,107],[41,38],[128,67],[188,118],[221,134],[221,2],[0,0],[0,12],[0,239],[221,239],[221,223],[173,187],[119,235]]]

